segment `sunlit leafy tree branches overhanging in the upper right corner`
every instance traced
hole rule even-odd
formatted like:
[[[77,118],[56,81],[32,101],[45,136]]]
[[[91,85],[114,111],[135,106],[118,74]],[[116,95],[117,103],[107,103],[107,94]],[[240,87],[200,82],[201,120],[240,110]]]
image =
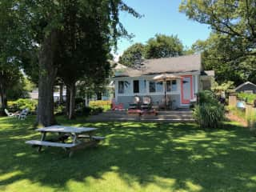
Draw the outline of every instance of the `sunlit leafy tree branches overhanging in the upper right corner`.
[[[180,11],[189,18],[210,25],[214,31],[226,34],[242,45],[243,54],[256,55],[256,3],[254,0],[183,0]]]

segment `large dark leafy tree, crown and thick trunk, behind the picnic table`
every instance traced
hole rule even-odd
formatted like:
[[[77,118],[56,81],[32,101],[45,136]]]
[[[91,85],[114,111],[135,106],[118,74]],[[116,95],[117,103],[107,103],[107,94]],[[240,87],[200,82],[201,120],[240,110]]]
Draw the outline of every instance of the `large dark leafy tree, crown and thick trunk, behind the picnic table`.
[[[104,74],[102,67],[110,46],[116,46],[120,36],[129,36],[119,21],[119,12],[140,15],[121,0],[17,2],[15,9],[27,28],[23,32],[30,46],[38,45],[38,123],[49,126],[55,123],[53,90],[57,75],[74,86],[82,75],[96,78]]]

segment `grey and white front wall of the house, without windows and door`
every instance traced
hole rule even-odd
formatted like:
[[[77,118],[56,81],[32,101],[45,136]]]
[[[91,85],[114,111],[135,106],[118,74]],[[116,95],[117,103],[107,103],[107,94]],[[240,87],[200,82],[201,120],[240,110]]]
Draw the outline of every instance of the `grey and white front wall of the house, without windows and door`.
[[[192,75],[192,84],[193,84],[193,94],[198,93],[199,89],[199,73],[186,73],[186,74],[177,74],[177,75]],[[158,105],[159,103],[162,102],[162,98],[164,97],[164,89],[162,92],[156,92],[156,93],[150,93],[149,91],[149,81],[152,81],[155,75],[146,75],[146,76],[140,76],[140,77],[120,77],[120,78],[114,78],[115,81],[115,101],[117,103],[123,103],[125,108],[129,107],[129,104],[133,102],[133,98],[135,95],[138,96],[146,96],[149,95],[152,98],[152,102],[154,105]],[[134,85],[133,81],[134,80],[146,80],[146,90],[145,93],[133,93],[134,90]],[[127,91],[126,94],[118,94],[118,81],[126,81],[130,83],[130,89]],[[174,103],[173,106],[174,108],[183,108],[183,107],[189,107],[187,104],[182,104],[181,100],[181,80],[177,79],[177,90],[172,90],[170,92],[166,92],[166,95],[170,96],[170,99]]]

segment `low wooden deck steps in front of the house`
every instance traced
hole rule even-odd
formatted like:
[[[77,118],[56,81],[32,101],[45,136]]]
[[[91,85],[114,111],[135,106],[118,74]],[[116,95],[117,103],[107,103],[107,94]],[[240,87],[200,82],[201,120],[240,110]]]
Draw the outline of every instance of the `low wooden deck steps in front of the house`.
[[[127,111],[106,111],[105,113],[92,115],[88,122],[194,122],[190,110],[159,111],[158,115],[127,114]]]

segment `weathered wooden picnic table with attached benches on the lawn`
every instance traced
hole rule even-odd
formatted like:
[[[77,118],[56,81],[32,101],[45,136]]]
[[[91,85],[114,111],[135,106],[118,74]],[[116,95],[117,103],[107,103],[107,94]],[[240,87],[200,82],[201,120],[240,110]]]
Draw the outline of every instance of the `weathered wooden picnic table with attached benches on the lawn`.
[[[30,140],[27,144],[38,146],[38,152],[42,150],[42,146],[62,147],[70,152],[70,157],[74,150],[83,149],[88,146],[96,146],[104,137],[94,135],[97,128],[92,127],[74,127],[74,126],[46,126],[36,131],[41,132],[41,140]],[[47,133],[58,134],[57,138],[46,140]],[[71,138],[71,142],[66,142]]]

